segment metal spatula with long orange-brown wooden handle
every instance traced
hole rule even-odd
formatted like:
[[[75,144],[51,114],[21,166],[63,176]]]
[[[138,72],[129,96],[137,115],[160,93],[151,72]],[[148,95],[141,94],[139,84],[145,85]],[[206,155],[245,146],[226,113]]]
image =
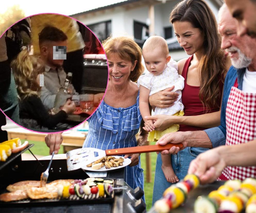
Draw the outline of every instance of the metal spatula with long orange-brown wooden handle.
[[[98,160],[104,156],[111,155],[126,155],[126,154],[138,154],[138,153],[147,153],[147,152],[161,152],[165,149],[170,149],[171,147],[176,146],[180,149],[183,147],[181,143],[179,144],[167,144],[165,146],[161,145],[148,145],[148,146],[136,146],[120,149],[108,149],[101,150],[96,148],[80,148],[74,149],[67,152],[67,170],[76,170],[86,165]],[[95,156],[95,153],[98,153]]]

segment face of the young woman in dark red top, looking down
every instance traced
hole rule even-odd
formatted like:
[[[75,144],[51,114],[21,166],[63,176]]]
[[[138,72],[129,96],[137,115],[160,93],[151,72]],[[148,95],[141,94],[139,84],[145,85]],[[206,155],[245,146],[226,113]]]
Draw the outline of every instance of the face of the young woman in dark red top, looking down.
[[[193,55],[203,50],[204,33],[199,28],[194,28],[190,22],[173,22],[174,32],[181,47],[187,55]]]

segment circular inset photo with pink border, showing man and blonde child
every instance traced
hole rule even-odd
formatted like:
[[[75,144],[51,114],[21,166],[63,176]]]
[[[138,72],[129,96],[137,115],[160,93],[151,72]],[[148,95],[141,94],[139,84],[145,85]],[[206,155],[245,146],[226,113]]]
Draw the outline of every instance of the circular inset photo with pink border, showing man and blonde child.
[[[26,17],[0,38],[1,111],[23,128],[59,132],[87,120],[102,101],[108,66],[98,38],[75,19]]]

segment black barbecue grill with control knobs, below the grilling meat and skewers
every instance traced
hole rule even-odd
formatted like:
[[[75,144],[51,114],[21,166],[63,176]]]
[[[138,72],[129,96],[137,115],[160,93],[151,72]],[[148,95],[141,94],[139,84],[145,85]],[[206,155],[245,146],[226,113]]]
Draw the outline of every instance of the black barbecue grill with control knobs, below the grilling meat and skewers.
[[[29,145],[25,150],[33,145]],[[22,152],[24,152],[23,150]],[[39,180],[49,164],[49,160],[22,161],[21,153],[12,154],[6,162],[0,163],[0,193],[5,193],[9,184],[23,180]],[[89,176],[82,169],[67,171],[65,159],[53,160],[49,170],[48,181],[59,179],[86,179]],[[114,187],[127,185],[124,182],[124,168],[107,172],[103,179],[114,180]],[[127,185],[128,186],[128,185]],[[139,187],[135,190],[114,190],[110,197],[100,198],[97,195],[75,195],[68,199],[25,199],[12,202],[0,202],[0,212],[146,212],[146,204],[141,199],[144,192]]]

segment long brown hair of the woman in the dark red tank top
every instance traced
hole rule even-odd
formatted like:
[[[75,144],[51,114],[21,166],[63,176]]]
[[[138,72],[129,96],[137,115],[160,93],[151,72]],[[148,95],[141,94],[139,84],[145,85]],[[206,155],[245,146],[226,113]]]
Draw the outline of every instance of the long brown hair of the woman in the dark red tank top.
[[[221,38],[218,34],[216,18],[203,0],[184,0],[178,3],[170,14],[170,22],[187,21],[204,33],[203,56],[199,61],[200,92],[199,98],[207,111],[220,107],[219,83],[224,82],[225,53],[221,50]]]

